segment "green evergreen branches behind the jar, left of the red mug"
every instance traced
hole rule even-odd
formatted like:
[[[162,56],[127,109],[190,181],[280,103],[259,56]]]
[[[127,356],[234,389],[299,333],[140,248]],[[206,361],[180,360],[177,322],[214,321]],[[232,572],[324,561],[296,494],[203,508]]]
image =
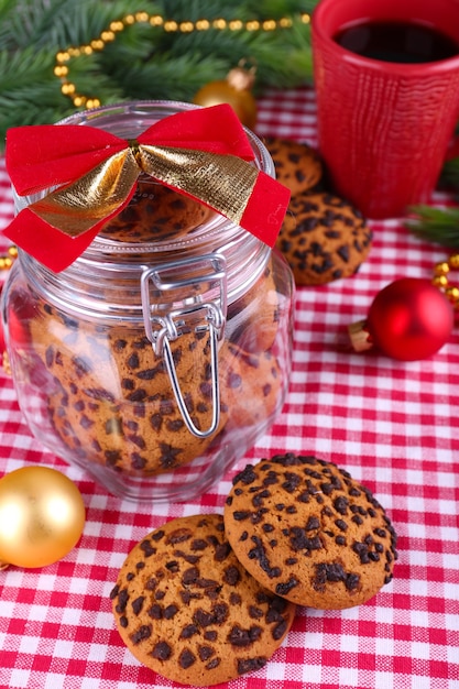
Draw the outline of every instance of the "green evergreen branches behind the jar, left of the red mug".
[[[275,31],[209,29],[190,33],[135,23],[92,55],[68,63],[78,94],[102,105],[131,99],[193,100],[240,59],[256,64],[254,91],[312,80],[309,25],[314,0],[0,0],[0,140],[8,128],[51,123],[75,111],[54,75],[58,51],[97,39],[110,22],[145,11],[165,20],[289,18]]]

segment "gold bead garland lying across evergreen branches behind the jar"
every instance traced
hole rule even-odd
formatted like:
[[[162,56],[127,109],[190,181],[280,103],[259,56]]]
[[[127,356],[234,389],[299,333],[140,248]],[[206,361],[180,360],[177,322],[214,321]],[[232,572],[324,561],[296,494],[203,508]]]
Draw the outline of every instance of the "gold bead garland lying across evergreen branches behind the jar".
[[[300,21],[304,24],[310,22],[310,15],[307,12],[303,12],[299,15]],[[124,29],[132,26],[133,24],[146,23],[153,28],[162,29],[167,33],[193,33],[194,31],[209,31],[211,29],[217,31],[275,31],[277,29],[291,29],[293,20],[288,17],[281,19],[266,19],[266,20],[249,20],[241,21],[239,19],[198,19],[197,21],[174,21],[166,20],[161,14],[150,14],[149,12],[135,12],[133,14],[127,14],[120,20],[110,22],[109,26],[101,31],[100,35],[96,39],[79,45],[78,47],[68,47],[59,51],[56,54],[56,64],[54,67],[54,76],[61,80],[61,91],[64,96],[70,98],[76,108],[86,108],[91,110],[92,108],[99,108],[101,106],[100,99],[97,97],[85,96],[78,94],[74,81],[69,78],[68,63],[75,57],[80,55],[91,55],[94,52],[101,52],[108,43],[116,40],[117,35],[124,31]]]

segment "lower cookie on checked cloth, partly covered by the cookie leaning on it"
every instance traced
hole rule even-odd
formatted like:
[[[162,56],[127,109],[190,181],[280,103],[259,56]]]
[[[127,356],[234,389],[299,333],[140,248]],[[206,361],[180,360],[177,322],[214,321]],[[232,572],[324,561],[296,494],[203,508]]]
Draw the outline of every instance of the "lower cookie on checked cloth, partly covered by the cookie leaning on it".
[[[217,514],[179,517],[146,536],[125,559],[111,599],[133,655],[199,687],[263,667],[295,613],[245,571]]]

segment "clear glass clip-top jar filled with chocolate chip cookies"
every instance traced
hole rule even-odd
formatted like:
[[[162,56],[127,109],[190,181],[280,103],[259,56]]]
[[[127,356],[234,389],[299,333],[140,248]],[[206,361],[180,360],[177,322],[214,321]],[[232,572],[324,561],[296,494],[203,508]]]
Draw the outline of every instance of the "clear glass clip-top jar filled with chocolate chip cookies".
[[[132,139],[192,107],[123,103],[64,123]],[[247,134],[254,164],[274,176],[265,147]],[[141,176],[129,206],[66,270],[19,251],[2,318],[26,423],[114,495],[194,499],[283,406],[293,295],[276,251]]]

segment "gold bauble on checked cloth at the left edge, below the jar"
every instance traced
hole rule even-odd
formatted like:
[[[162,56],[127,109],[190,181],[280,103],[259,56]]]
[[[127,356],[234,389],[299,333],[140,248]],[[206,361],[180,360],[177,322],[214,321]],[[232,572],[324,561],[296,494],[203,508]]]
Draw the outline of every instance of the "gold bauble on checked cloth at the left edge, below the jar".
[[[85,504],[66,475],[24,467],[0,480],[0,568],[45,567],[67,555],[85,525]]]

